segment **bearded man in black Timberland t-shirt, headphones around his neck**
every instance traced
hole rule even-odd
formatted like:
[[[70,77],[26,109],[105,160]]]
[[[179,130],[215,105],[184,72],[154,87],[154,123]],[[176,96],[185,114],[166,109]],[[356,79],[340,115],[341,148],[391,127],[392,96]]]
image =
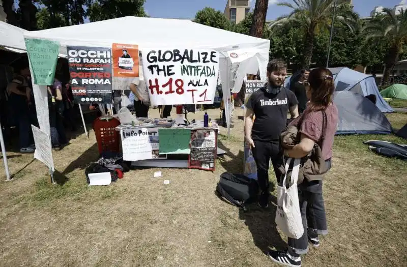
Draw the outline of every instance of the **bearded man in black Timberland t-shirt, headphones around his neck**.
[[[269,162],[273,163],[277,181],[282,164],[279,137],[287,124],[287,113],[298,116],[297,98],[284,88],[287,65],[282,60],[272,60],[267,65],[267,80],[263,88],[253,93],[246,104],[245,139],[251,146],[257,166],[257,181],[261,190],[259,205],[268,206]],[[253,122],[254,115],[254,122]]]

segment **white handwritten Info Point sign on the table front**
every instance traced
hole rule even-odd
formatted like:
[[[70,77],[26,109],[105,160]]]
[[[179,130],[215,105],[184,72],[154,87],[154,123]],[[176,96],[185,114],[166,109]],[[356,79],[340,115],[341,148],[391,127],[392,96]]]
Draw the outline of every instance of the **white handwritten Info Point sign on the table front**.
[[[147,128],[123,129],[122,138],[123,159],[136,161],[152,158],[152,149]]]

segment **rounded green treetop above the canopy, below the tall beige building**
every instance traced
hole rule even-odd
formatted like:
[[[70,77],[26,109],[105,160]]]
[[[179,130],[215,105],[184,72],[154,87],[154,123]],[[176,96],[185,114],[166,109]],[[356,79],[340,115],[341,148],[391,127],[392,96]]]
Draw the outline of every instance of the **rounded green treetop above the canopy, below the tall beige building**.
[[[213,8],[204,8],[199,10],[195,19],[193,20],[196,23],[211,26],[214,28],[226,29],[227,31],[232,29],[231,23],[227,20],[225,15],[219,10]]]

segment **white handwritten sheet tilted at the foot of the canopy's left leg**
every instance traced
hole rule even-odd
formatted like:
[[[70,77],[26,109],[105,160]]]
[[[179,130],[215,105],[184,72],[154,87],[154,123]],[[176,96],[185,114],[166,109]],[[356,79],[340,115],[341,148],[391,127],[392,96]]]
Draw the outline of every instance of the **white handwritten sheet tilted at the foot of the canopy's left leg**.
[[[34,158],[38,159],[51,170],[54,171],[54,162],[52,160],[51,138],[49,135],[31,125],[35,143]]]

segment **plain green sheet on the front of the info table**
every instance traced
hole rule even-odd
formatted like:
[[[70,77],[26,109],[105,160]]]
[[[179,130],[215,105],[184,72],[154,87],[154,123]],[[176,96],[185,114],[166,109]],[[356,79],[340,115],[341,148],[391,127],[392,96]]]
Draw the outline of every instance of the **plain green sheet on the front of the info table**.
[[[189,129],[158,129],[160,154],[189,154],[191,149],[191,130]]]

